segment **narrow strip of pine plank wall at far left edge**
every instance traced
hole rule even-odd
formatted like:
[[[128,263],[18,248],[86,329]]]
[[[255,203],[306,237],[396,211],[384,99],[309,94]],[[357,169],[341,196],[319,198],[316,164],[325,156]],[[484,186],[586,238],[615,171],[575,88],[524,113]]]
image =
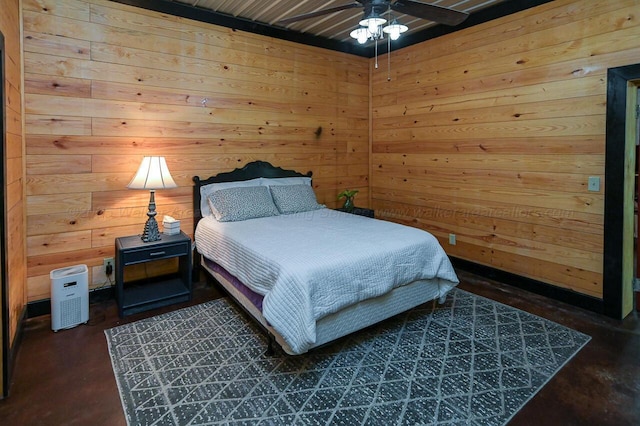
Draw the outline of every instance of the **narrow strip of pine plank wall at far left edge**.
[[[24,144],[22,130],[22,76],[20,46],[20,6],[18,0],[2,2],[0,31],[5,38],[5,175],[3,192],[7,247],[8,300],[0,302],[9,307],[9,342],[15,345],[18,323],[26,303],[26,246],[24,200]],[[2,319],[0,319],[1,321]],[[0,331],[1,333],[1,331]],[[0,387],[2,384],[0,384]],[[2,394],[0,389],[0,395]]]

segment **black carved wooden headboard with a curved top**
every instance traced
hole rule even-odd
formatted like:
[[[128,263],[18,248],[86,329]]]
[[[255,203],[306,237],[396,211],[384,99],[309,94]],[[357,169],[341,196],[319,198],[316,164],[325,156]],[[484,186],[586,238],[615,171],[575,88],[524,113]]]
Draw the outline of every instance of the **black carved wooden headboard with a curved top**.
[[[193,234],[195,236],[196,226],[202,219],[200,211],[200,187],[211,183],[220,182],[237,182],[242,180],[251,180],[259,177],[280,178],[280,177],[311,177],[313,173],[300,173],[295,170],[284,170],[281,167],[275,167],[266,161],[252,161],[242,168],[237,168],[230,172],[218,173],[205,180],[201,180],[199,176],[193,177],[195,183],[193,187]]]

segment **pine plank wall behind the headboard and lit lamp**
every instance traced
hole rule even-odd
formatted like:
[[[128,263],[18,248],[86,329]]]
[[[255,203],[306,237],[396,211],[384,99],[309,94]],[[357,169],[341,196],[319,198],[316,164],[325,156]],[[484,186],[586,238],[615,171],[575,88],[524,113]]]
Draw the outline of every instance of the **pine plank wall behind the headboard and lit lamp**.
[[[158,217],[192,233],[194,175],[252,160],[314,172],[318,199],[368,199],[368,60],[106,0],[23,0],[28,298],[78,263],[106,283],[114,238],[142,232],[126,185],[164,155]]]

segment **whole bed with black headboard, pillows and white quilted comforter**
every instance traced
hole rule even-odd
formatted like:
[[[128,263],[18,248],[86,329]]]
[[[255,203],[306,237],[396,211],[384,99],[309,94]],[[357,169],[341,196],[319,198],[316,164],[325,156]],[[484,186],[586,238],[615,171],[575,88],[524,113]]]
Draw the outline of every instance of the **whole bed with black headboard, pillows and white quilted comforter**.
[[[444,302],[458,278],[434,236],[326,208],[311,177],[255,161],[193,178],[195,272],[267,331],[270,348],[302,354]]]

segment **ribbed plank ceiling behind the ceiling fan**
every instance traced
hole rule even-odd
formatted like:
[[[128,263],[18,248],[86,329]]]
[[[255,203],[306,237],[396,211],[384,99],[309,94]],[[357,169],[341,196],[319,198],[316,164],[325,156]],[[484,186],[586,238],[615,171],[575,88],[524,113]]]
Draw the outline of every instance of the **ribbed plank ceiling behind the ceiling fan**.
[[[342,10],[339,12],[322,15],[319,17],[306,19],[298,22],[294,22],[287,25],[279,23],[280,20],[315,12],[318,10],[333,8],[345,4],[354,3],[349,0],[168,0],[174,4],[180,4],[200,10],[201,12],[213,13],[219,17],[227,17],[230,19],[236,19],[238,21],[244,21],[249,23],[255,23],[260,26],[272,28],[276,31],[284,30],[288,33],[295,33],[302,36],[311,36],[313,38],[328,39],[334,46],[343,45],[340,50],[352,51],[358,53],[358,42],[350,38],[349,34],[352,30],[358,27],[358,22],[363,17],[362,8],[353,8]],[[425,2],[426,3],[426,2]],[[505,13],[512,13],[509,7],[513,7],[514,10],[527,8],[522,3],[527,3],[523,0],[436,0],[428,2],[437,6],[447,7],[458,11],[467,12],[470,17],[467,19],[469,22],[460,24],[458,27],[469,26],[470,22],[478,23],[474,17],[479,12],[487,12],[490,9],[496,9],[496,7],[502,7],[502,10],[498,12],[498,15],[504,15]],[[507,3],[509,5],[507,5]],[[515,5],[518,3],[518,5]],[[539,3],[539,2],[537,2]],[[504,8],[507,6],[507,9]],[[506,10],[506,11],[505,11]],[[424,36],[420,37],[419,34],[424,34],[428,30],[434,30],[436,28],[441,31],[455,31],[453,27],[447,27],[446,25],[438,24],[433,21],[427,21],[424,19],[416,18],[414,16],[406,14],[395,13],[393,17],[398,21],[409,27],[409,30],[403,34],[402,39],[406,41],[398,40],[395,48],[404,47],[408,44],[413,44],[426,39]],[[482,20],[491,19],[495,16],[489,16]],[[293,37],[295,38],[295,37]],[[427,37],[430,38],[430,37]],[[307,38],[306,40],[309,40]],[[303,41],[304,42],[304,41]],[[308,43],[308,41],[307,41]],[[365,46],[371,47],[373,43],[368,43]],[[382,43],[385,44],[386,43]],[[392,47],[394,48],[394,47]],[[361,51],[360,53],[363,54]],[[368,53],[364,53],[368,55]]]

